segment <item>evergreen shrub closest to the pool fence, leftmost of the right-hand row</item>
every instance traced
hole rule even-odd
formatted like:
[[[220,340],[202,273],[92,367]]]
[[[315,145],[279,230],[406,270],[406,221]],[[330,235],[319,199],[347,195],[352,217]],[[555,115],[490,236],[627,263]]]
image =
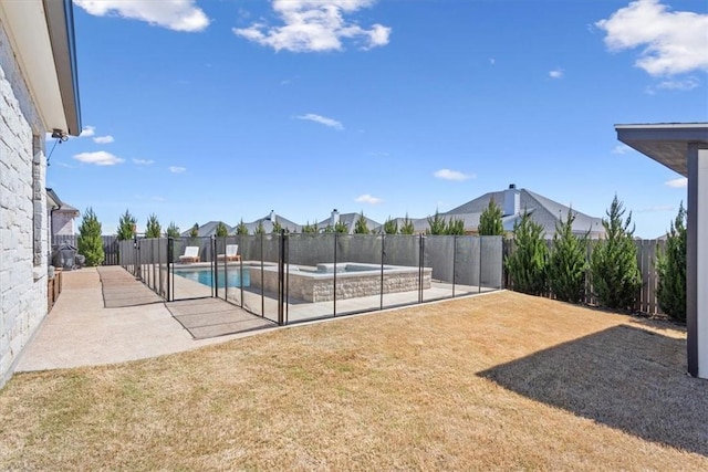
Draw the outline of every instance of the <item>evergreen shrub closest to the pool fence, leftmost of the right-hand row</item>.
[[[513,225],[516,249],[504,260],[512,289],[531,295],[548,292],[546,268],[549,248],[543,239],[543,227],[531,220],[525,211]]]

